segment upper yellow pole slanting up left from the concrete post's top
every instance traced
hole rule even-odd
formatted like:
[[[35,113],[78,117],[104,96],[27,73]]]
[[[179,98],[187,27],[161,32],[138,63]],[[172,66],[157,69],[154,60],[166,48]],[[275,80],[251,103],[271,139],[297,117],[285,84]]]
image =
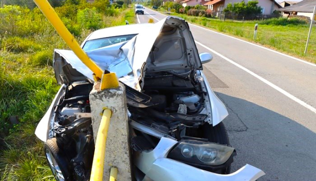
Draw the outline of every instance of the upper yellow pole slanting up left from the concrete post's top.
[[[70,49],[77,57],[97,76],[101,79],[103,71],[94,63],[81,49],[75,37],[69,32],[64,23],[61,21],[53,7],[47,0],[34,0],[40,11],[45,15],[51,25],[58,34],[64,39]]]

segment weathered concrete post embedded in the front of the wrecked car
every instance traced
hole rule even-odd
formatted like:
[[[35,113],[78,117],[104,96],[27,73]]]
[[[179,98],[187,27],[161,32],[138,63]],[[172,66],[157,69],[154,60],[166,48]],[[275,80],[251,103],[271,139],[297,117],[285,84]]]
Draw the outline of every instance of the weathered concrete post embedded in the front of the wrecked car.
[[[103,181],[109,181],[112,166],[118,168],[118,181],[131,181],[128,118],[124,85],[119,83],[118,88],[101,91],[100,81],[97,81],[94,83],[89,98],[94,140],[96,140],[103,110],[108,108],[112,111],[106,142]]]

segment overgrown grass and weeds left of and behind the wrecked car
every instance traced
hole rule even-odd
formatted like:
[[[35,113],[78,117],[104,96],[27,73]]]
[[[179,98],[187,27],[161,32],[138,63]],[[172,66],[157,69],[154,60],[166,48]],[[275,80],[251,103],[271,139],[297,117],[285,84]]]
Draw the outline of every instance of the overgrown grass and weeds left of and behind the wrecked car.
[[[124,1],[50,2],[79,43],[93,30],[134,23],[133,7]],[[0,8],[0,181],[54,180],[34,134],[59,89],[54,48],[68,49],[33,3]]]

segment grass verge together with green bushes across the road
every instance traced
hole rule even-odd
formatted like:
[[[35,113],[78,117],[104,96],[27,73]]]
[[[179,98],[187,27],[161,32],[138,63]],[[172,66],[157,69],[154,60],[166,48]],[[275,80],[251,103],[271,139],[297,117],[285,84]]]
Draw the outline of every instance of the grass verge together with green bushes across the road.
[[[148,6],[155,5],[160,12],[181,17],[190,23],[210,30],[233,35],[316,63],[316,26],[312,30],[308,52],[304,54],[310,26],[310,22],[306,18],[283,18],[279,17],[280,14],[276,11],[271,15],[274,18],[263,19],[260,16],[261,12],[259,11],[260,8],[257,7],[257,1],[249,1],[248,4],[244,2],[229,4],[224,9],[225,21],[223,16],[221,19],[214,17],[211,11],[206,10],[206,6],[196,5],[184,8],[177,1],[167,1],[162,5],[161,0],[147,1],[146,4]],[[242,20],[243,17],[244,21]],[[259,24],[258,34],[254,40],[254,26],[257,23]],[[216,44],[216,42],[213,43]]]

